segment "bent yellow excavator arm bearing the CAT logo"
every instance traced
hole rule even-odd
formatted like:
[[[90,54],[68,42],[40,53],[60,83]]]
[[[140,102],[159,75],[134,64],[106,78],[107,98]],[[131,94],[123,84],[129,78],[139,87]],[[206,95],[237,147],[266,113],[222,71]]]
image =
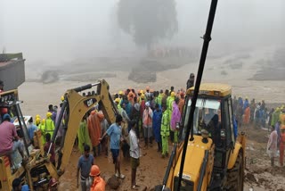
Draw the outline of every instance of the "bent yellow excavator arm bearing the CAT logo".
[[[97,87],[94,95],[83,96],[78,94],[78,92],[92,87]],[[57,173],[59,176],[64,173],[64,170],[69,163],[69,157],[72,152],[75,138],[77,137],[77,129],[79,128],[80,121],[85,113],[91,110],[95,104],[100,104],[102,106],[102,112],[110,124],[115,122],[116,114],[118,112],[117,107],[113,104],[109,93],[109,85],[104,79],[95,84],[69,89],[66,92],[64,104],[61,108],[60,119],[57,120],[58,122],[52,139],[54,144],[61,120],[65,115],[66,128],[63,132],[63,140],[61,142],[58,160],[59,171]]]

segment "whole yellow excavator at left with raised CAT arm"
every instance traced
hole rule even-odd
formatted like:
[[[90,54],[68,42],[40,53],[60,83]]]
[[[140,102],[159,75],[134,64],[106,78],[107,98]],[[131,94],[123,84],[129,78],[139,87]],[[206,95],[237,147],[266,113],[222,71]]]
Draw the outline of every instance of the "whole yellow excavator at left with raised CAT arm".
[[[60,122],[64,120],[65,126],[61,146],[58,149],[57,167],[49,162],[48,154],[44,153],[40,131],[35,132],[34,144],[31,144],[32,141],[28,138],[28,130],[20,111],[21,102],[18,100],[18,91],[12,90],[1,93],[0,109],[8,108],[19,120],[17,132],[20,141],[23,141],[25,145],[25,155],[28,156],[28,162],[21,165],[12,174],[8,158],[4,155],[0,156],[0,191],[12,190],[12,181],[16,178],[20,178],[23,183],[28,184],[30,190],[47,190],[50,179],[59,179],[69,163],[69,157],[77,137],[77,129],[85,113],[94,108],[94,105],[99,104],[106,120],[110,124],[115,122],[118,111],[110,96],[109,88],[109,84],[102,79],[94,84],[69,89],[64,94],[59,120],[57,120],[59,122],[55,124],[52,137],[54,144],[61,125]],[[87,90],[89,94],[85,94]]]

